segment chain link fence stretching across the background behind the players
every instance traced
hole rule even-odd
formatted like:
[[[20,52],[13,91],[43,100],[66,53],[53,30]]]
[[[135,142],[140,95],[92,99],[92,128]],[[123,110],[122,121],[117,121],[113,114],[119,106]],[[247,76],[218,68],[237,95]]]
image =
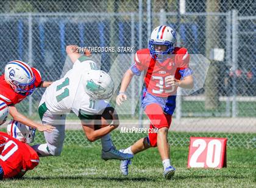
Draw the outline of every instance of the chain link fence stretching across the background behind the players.
[[[229,146],[256,147],[256,5],[253,0],[1,1],[0,4],[0,72],[3,73],[7,62],[20,59],[40,70],[47,81],[61,77],[68,63],[66,45],[134,47],[136,52],[148,47],[154,27],[171,25],[178,33],[180,46],[186,47],[190,54],[204,55],[211,64],[202,89],[177,97],[170,143],[187,146],[192,135],[221,136],[229,139]],[[223,49],[224,58],[220,61],[211,58],[213,49]],[[101,53],[99,61],[103,70],[115,70],[112,76],[121,82],[123,73],[133,63],[133,54],[119,60],[118,55]],[[192,67],[197,69],[199,65],[195,63]],[[123,107],[130,113],[121,116],[130,121],[123,121],[120,127],[148,126],[149,121],[140,115],[140,102],[137,102],[142,84],[142,78],[133,78],[127,91],[132,102]],[[37,107],[43,92],[44,89],[37,89],[18,104],[20,112],[39,120]],[[70,115],[68,119],[75,118]],[[113,139],[129,146],[145,135],[117,130]],[[43,141],[43,136],[38,133],[35,141]],[[82,131],[73,130],[68,130],[66,143],[94,146],[85,140]]]

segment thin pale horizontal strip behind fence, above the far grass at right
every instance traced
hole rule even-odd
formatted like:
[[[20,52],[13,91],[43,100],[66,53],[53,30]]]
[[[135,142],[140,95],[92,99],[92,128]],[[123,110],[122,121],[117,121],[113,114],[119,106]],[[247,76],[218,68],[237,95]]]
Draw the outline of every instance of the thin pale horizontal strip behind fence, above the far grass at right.
[[[233,96],[219,96],[219,101],[233,100]],[[183,96],[183,101],[205,101],[205,96]],[[236,96],[238,102],[256,102],[256,96]]]

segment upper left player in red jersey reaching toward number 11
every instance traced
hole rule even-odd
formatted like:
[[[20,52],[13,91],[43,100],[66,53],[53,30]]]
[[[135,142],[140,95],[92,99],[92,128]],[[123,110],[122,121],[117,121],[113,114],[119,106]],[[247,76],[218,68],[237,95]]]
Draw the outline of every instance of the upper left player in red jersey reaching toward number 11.
[[[35,87],[48,87],[51,82],[41,80],[40,72],[23,61],[13,60],[5,65],[4,75],[0,76],[0,99],[9,106],[10,115],[16,121],[39,131],[51,132],[54,127],[35,123],[22,115],[15,107],[34,92]]]

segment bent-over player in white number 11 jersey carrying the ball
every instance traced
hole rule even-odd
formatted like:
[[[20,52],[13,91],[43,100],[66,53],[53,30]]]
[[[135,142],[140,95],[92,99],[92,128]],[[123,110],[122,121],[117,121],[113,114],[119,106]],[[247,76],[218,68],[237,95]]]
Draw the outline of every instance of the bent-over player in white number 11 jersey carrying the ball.
[[[76,52],[76,45],[66,47],[66,52],[74,63],[73,69],[52,83],[42,96],[38,112],[43,124],[55,127],[52,132],[44,132],[46,144],[33,146],[40,156],[59,156],[65,138],[66,114],[73,112],[81,119],[82,127],[89,141],[101,138],[102,159],[130,159],[133,155],[115,149],[110,132],[119,126],[118,115],[105,99],[113,95],[112,78],[99,70],[96,62],[88,56]],[[96,130],[94,125],[98,115],[106,108],[113,118],[112,124]]]

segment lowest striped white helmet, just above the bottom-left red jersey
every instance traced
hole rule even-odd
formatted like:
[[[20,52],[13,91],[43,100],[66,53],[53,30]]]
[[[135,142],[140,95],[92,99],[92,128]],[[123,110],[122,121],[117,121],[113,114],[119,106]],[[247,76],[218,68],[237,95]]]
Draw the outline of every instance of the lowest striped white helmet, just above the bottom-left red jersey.
[[[7,126],[8,135],[23,143],[32,143],[35,137],[35,129],[25,126],[18,121],[12,120]]]

